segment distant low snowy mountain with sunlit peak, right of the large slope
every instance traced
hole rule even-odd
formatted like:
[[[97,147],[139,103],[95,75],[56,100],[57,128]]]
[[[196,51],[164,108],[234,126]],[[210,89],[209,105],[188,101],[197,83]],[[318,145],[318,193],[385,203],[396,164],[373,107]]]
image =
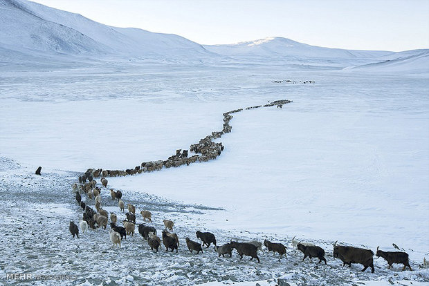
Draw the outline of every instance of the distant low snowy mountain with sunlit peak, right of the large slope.
[[[302,44],[298,41],[282,37],[268,37],[255,41],[244,41],[238,44],[204,47],[214,53],[239,57],[313,57],[351,59],[358,57],[381,57],[392,54],[392,52],[388,51],[323,48]]]

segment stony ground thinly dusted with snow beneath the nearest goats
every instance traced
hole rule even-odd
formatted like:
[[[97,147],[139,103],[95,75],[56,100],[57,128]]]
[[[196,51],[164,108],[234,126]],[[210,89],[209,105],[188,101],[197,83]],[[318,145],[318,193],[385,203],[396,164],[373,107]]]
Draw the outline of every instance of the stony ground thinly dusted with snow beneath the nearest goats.
[[[109,228],[80,233],[72,238],[69,221],[78,223],[82,210],[75,202],[71,184],[77,173],[55,171],[35,175],[33,170],[17,162],[0,158],[0,193],[3,203],[0,220],[0,283],[5,285],[58,285],[58,276],[68,276],[61,285],[196,285],[207,282],[233,283],[265,280],[275,285],[283,277],[289,285],[364,285],[365,281],[384,280],[390,284],[397,280],[411,283],[429,283],[429,270],[421,269],[411,261],[414,271],[401,271],[395,265],[387,269],[382,258],[375,258],[376,271],[360,272],[361,265],[351,269],[332,257],[331,241],[311,241],[327,251],[328,265],[306,260],[291,245],[291,237],[278,237],[268,233],[246,231],[223,231],[205,229],[204,221],[223,209],[201,205],[181,204],[147,193],[131,193],[126,189],[122,200],[131,202],[137,211],[152,211],[152,224],[163,229],[162,220],[171,219],[179,236],[179,253],[151,251],[147,242],[138,234],[122,241],[122,247],[112,247]],[[117,202],[110,198],[109,191],[102,189],[102,205],[107,211],[118,214],[118,221],[125,218],[119,212]],[[94,202],[88,201],[93,207]],[[143,222],[137,215],[137,223]],[[185,238],[197,240],[195,231],[215,233],[218,244],[231,239],[263,241],[268,238],[282,242],[287,257],[279,258],[266,251],[259,252],[261,263],[244,257],[239,260],[236,251],[232,258],[218,258],[210,247],[203,254],[191,254],[185,246]],[[52,275],[48,280],[17,280],[8,274]],[[63,277],[64,278],[64,277]]]

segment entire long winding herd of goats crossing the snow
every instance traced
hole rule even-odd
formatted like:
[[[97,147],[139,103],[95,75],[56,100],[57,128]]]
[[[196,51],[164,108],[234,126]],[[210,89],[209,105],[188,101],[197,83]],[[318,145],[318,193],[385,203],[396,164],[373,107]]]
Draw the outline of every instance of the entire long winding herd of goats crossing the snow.
[[[289,103],[289,100],[277,100],[275,102],[271,102],[269,104],[263,106],[277,106],[277,108],[281,108],[283,104]],[[259,108],[262,106],[251,106],[246,109],[251,108]],[[158,171],[165,168],[170,168],[172,166],[181,166],[183,164],[189,165],[193,162],[205,162],[208,160],[213,160],[217,158],[223,151],[223,146],[221,143],[213,142],[212,140],[217,139],[223,135],[223,133],[228,133],[231,131],[232,127],[229,122],[232,119],[232,113],[237,113],[242,111],[242,109],[237,109],[234,111],[229,111],[227,113],[223,113],[223,130],[219,132],[212,132],[212,135],[208,135],[207,137],[201,139],[198,144],[192,144],[190,146],[190,152],[196,153],[196,155],[192,155],[188,157],[188,150],[181,151],[180,149],[176,151],[176,155],[172,155],[167,160],[159,160],[154,162],[143,162],[140,166],[136,166],[133,169],[122,170],[102,170],[102,169],[88,169],[83,175],[79,177],[79,183],[73,184],[73,193],[75,193],[75,199],[77,203],[83,209],[83,217],[80,220],[80,229],[84,233],[87,229],[97,229],[102,227],[107,229],[107,225],[109,222],[109,218],[111,220],[109,226],[109,236],[110,240],[113,243],[113,246],[118,245],[120,247],[121,241],[127,238],[127,235],[134,236],[135,227],[136,227],[136,207],[132,204],[127,204],[128,212],[125,213],[126,220],[122,221],[122,225],[116,225],[118,216],[115,213],[109,213],[102,209],[102,200],[101,200],[101,191],[102,189],[98,187],[98,183],[95,178],[100,178],[100,183],[104,188],[104,191],[107,191],[108,180],[106,177],[109,176],[117,176],[117,175],[136,175],[138,173],[146,173],[151,171]],[[82,200],[82,194],[86,194],[86,203]],[[118,201],[119,211],[125,212],[125,203],[122,200],[122,192],[121,191],[113,191],[110,189],[110,195],[112,200]],[[95,203],[96,211],[91,208],[87,203],[93,200]],[[140,211],[140,214],[143,217],[144,222],[152,223],[152,213],[147,210]],[[171,251],[176,250],[178,252],[179,249],[179,237],[176,233],[173,233],[174,222],[172,220],[163,220],[165,229],[162,231],[161,238],[156,234],[156,229],[149,225],[145,225],[144,223],[138,225],[138,233],[145,240],[147,240],[147,244],[151,248],[151,250],[158,251],[158,248],[161,247],[161,242],[165,247],[165,251],[171,249]],[[69,231],[74,236],[79,238],[79,227],[75,225],[72,221],[69,225]],[[214,245],[215,251],[218,256],[225,256],[225,254],[229,254],[229,257],[232,256],[232,249],[236,249],[237,253],[240,256],[240,259],[243,256],[250,256],[250,260],[255,258],[259,263],[259,257],[257,256],[257,251],[262,250],[262,245],[268,249],[268,251],[276,252],[280,256],[286,256],[286,247],[280,242],[270,242],[268,240],[264,240],[264,243],[259,241],[248,241],[248,242],[235,242],[230,241],[224,245],[217,246],[217,240],[215,235],[210,232],[201,232],[197,231],[196,236],[199,240],[201,240],[202,245],[206,248],[210,247],[211,244]],[[197,254],[203,251],[201,246],[201,242],[195,242],[190,238],[185,238],[186,245],[190,252],[196,251]],[[305,258],[318,258],[319,263],[322,261],[327,264],[327,260],[325,259],[325,250],[322,247],[313,245],[311,243],[304,243],[292,239],[292,244],[294,247],[298,248],[304,254]],[[352,263],[357,263],[363,265],[362,271],[365,271],[368,267],[371,267],[371,271],[374,272],[374,263],[373,256],[374,252],[370,249],[362,249],[358,247],[351,246],[342,246],[342,245],[334,245],[334,258],[338,258],[343,262],[343,266],[348,265],[351,267]],[[377,247],[376,256],[383,257],[387,260],[388,269],[392,267],[393,263],[399,263],[403,265],[403,270],[405,267],[408,267],[411,270],[411,266],[409,263],[408,254],[402,251],[381,251]]]

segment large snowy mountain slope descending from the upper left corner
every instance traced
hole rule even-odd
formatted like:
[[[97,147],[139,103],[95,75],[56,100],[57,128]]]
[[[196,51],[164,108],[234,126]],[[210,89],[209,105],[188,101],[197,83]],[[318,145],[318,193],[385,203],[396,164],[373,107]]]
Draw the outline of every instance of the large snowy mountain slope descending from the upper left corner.
[[[192,58],[211,55],[178,35],[116,28],[38,3],[0,0],[0,47],[67,55]]]

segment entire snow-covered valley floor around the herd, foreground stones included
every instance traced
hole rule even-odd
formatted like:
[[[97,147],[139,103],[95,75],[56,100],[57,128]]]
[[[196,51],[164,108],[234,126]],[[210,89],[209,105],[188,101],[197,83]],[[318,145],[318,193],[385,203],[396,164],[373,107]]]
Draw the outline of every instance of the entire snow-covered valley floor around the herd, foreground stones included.
[[[298,84],[272,82],[284,79]],[[299,83],[305,80],[316,84]],[[73,273],[79,278],[70,284],[88,279],[94,285],[266,281],[288,274],[295,285],[428,283],[428,270],[419,269],[429,256],[427,82],[424,75],[258,65],[1,70],[0,155],[15,160],[0,167],[1,252],[14,254],[3,258],[1,269]],[[234,115],[217,160],[109,178],[109,187],[121,189],[138,210],[150,209],[158,231],[172,218],[182,245],[206,229],[221,242],[281,241],[288,258],[261,254],[257,265],[240,263],[236,254],[194,256],[185,247],[179,255],[152,254],[138,236],[118,251],[102,230],[71,239],[69,220],[81,217],[69,187],[78,172],[166,159],[220,131],[223,112],[275,99],[293,103]],[[42,178],[33,175],[37,166],[44,168]],[[117,211],[103,195],[107,209]],[[289,245],[293,236],[324,247],[328,266],[300,263]],[[356,265],[343,269],[331,256],[335,240],[373,251],[394,242],[417,271],[387,270],[381,258],[375,274]],[[61,263],[54,267],[53,259]]]

